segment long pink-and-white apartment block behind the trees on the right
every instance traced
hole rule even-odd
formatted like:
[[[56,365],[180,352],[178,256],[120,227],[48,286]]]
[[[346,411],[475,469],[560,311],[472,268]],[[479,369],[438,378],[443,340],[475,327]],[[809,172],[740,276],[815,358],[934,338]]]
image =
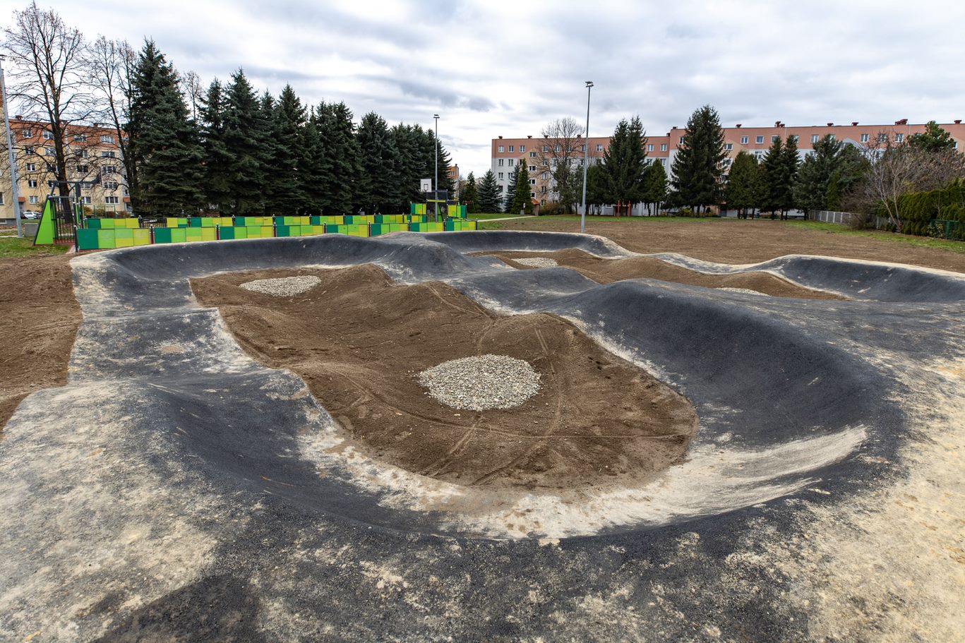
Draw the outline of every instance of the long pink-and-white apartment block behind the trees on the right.
[[[965,125],[962,124],[961,120],[939,125],[951,134],[957,149],[965,150]],[[858,122],[852,122],[847,125],[828,123],[823,126],[787,126],[777,121],[774,126],[769,127],[745,127],[738,123],[731,127],[724,127],[724,150],[728,154],[728,157],[724,160],[724,166],[725,168],[730,167],[733,158],[742,151],[754,154],[758,157],[758,160],[762,159],[775,138],[786,140],[788,136],[796,137],[798,154],[803,159],[808,154],[813,154],[814,143],[817,143],[826,135],[831,135],[851,145],[873,147],[884,137],[896,143],[902,143],[912,134],[921,132],[924,132],[924,123],[909,124],[908,119],[896,121],[894,125],[861,125]],[[664,136],[648,136],[648,158],[651,159],[651,162],[662,163],[667,169],[667,173],[670,174],[674,157],[680,144],[683,143],[685,134],[685,129],[674,126]],[[590,163],[601,162],[603,153],[610,145],[609,137],[591,137],[589,141]],[[524,162],[529,166],[530,184],[533,187],[530,196],[543,205],[553,201],[555,195],[550,178],[553,154],[549,150],[551,143],[551,141],[534,138],[533,136],[525,138],[503,138],[499,136],[492,139],[491,169],[493,174],[496,175],[500,192],[506,193],[515,165]],[[580,137],[573,141],[573,154],[569,156],[572,164],[582,166],[585,145],[586,141]],[[547,160],[549,160],[549,163],[545,163]]]

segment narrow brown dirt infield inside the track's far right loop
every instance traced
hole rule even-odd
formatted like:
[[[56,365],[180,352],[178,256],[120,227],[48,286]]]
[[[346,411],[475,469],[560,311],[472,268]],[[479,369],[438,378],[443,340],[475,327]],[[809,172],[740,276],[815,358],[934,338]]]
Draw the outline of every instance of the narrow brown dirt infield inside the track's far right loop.
[[[496,257],[512,267],[533,269],[532,263],[521,263],[519,259],[545,258],[560,266],[571,267],[593,279],[599,284],[609,284],[622,279],[659,279],[674,281],[678,284],[703,286],[704,288],[728,288],[777,297],[797,297],[801,299],[843,299],[837,294],[813,291],[776,277],[767,272],[743,272],[740,274],[704,274],[673,266],[652,257],[633,257],[630,259],[599,259],[582,250],[560,250],[557,252],[494,252],[483,253]]]

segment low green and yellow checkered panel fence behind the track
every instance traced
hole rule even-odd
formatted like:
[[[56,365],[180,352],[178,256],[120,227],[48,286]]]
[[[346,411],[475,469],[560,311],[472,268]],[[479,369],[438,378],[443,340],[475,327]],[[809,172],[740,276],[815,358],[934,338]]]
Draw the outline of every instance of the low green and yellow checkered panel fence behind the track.
[[[185,243],[217,239],[348,235],[378,237],[394,232],[462,232],[477,230],[476,221],[450,218],[431,222],[421,214],[346,216],[238,216],[168,218],[165,227],[140,228],[139,220],[85,220],[76,231],[78,250],[105,250],[152,243]]]

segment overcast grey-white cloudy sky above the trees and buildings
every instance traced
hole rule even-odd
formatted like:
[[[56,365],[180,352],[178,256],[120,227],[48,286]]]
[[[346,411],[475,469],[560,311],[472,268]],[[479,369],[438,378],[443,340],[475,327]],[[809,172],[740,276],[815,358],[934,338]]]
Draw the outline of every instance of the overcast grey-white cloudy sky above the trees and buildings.
[[[0,0],[9,22],[26,4]],[[462,174],[497,135],[586,118],[606,135],[639,114],[684,126],[705,102],[724,125],[965,118],[965,3],[924,0],[57,0],[89,37],[153,38],[207,84],[241,67],[277,94],[345,100],[390,124],[432,125]]]

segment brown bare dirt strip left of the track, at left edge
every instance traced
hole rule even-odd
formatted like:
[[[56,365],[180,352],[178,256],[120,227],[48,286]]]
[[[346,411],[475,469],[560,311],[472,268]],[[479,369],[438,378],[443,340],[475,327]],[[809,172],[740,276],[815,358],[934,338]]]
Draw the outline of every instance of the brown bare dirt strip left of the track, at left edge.
[[[68,257],[0,259],[0,430],[36,390],[67,383],[81,322]]]

